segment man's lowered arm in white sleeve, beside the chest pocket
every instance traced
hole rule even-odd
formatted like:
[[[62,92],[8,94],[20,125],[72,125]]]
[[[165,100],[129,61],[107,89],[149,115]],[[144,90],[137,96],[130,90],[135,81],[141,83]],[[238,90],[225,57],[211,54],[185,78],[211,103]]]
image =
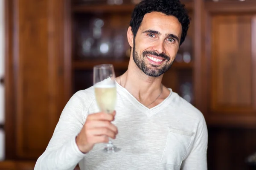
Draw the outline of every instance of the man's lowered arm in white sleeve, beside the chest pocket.
[[[203,117],[203,116],[202,116]],[[204,117],[198,124],[195,142],[189,156],[182,163],[182,170],[207,170],[208,132]]]

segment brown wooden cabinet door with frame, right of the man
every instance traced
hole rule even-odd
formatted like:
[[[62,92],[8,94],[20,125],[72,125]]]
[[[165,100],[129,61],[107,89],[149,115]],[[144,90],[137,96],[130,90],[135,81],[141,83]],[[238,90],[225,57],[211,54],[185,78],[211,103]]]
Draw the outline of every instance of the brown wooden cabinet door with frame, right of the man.
[[[208,99],[203,101],[207,121],[256,126],[256,13],[221,10],[205,18],[202,89]]]

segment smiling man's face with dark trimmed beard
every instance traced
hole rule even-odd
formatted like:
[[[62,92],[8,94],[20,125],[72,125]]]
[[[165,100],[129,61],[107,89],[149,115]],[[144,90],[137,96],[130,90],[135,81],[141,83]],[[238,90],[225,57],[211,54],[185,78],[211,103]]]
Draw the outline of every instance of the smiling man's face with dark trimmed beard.
[[[145,14],[133,42],[133,59],[148,76],[164,74],[179,49],[182,26],[176,17],[160,12]]]

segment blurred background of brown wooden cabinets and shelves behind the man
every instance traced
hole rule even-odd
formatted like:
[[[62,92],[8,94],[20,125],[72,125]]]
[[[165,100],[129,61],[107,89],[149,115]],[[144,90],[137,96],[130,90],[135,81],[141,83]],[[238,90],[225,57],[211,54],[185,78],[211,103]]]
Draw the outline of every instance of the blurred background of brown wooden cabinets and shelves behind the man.
[[[256,170],[256,0],[181,1],[192,23],[163,84],[204,114],[208,170]],[[33,170],[93,65],[126,71],[139,2],[0,0],[1,170]]]

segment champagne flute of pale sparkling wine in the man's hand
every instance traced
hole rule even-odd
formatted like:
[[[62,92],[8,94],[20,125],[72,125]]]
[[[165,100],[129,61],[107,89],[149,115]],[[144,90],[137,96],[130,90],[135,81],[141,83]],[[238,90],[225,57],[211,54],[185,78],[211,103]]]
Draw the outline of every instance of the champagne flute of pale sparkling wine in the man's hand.
[[[97,105],[100,111],[113,113],[116,105],[116,81],[114,67],[111,64],[96,65],[93,67],[93,85]],[[109,140],[103,149],[106,153],[118,152],[120,148],[116,147]]]

